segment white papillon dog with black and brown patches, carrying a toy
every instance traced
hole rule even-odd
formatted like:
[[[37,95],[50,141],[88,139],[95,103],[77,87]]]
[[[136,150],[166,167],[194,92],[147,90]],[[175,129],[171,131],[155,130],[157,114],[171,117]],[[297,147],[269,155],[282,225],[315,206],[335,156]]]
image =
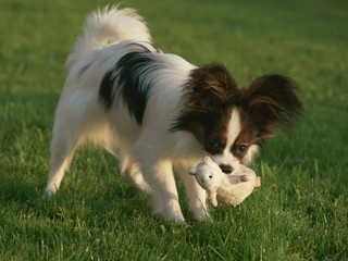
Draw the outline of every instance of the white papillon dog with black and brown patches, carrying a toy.
[[[221,63],[196,66],[152,46],[133,9],[97,10],[67,57],[51,141],[46,192],[60,187],[76,148],[92,140],[117,157],[121,171],[152,194],[153,214],[185,222],[173,166],[197,222],[209,219],[206,191],[188,170],[204,156],[225,174],[238,172],[301,114],[298,86],[264,75],[238,87]]]

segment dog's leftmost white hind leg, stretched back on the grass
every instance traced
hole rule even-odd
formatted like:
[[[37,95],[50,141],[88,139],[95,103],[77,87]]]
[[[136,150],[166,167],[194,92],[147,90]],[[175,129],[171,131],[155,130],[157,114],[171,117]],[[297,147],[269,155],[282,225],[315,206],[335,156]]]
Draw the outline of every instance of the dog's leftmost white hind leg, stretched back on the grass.
[[[98,111],[96,107],[98,98],[77,87],[65,86],[57,108],[51,142],[51,170],[46,187],[48,195],[59,189],[77,146],[87,138],[98,141],[105,136],[104,124],[100,120],[103,119],[103,111]]]

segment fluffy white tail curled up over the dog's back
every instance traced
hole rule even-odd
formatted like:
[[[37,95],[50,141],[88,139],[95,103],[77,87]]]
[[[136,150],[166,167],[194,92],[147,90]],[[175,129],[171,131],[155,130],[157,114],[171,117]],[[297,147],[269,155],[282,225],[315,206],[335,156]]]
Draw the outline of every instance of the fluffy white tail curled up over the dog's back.
[[[65,66],[70,70],[92,50],[124,40],[152,42],[144,18],[133,9],[119,10],[117,7],[107,7],[97,10],[87,16],[84,35],[75,42]]]

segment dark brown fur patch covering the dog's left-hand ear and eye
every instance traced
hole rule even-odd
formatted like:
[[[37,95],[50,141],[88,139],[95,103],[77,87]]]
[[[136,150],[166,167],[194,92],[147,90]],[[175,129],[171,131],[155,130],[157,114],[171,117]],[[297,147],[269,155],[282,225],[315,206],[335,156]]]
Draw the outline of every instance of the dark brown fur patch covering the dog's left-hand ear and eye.
[[[221,153],[237,97],[237,84],[224,65],[212,63],[194,70],[185,85],[184,109],[172,130],[189,130],[208,152]]]

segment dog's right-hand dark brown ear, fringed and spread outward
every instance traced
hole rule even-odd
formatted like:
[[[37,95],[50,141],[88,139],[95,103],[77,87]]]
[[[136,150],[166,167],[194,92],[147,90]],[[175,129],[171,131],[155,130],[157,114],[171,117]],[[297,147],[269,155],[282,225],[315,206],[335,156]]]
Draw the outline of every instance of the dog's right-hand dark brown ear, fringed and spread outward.
[[[279,134],[278,125],[290,127],[302,113],[302,103],[294,80],[282,75],[265,75],[244,89],[245,109],[258,128],[259,137]]]

